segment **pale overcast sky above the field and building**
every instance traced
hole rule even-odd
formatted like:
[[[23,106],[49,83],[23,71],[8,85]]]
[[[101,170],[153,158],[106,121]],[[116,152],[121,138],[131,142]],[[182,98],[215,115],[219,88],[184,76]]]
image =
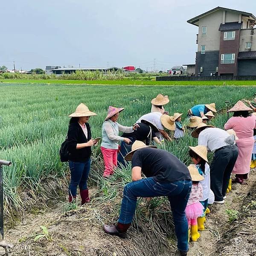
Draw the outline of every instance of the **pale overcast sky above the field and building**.
[[[0,4],[0,66],[151,70],[195,63],[198,27],[186,22],[216,6],[252,12],[256,1],[9,0]]]

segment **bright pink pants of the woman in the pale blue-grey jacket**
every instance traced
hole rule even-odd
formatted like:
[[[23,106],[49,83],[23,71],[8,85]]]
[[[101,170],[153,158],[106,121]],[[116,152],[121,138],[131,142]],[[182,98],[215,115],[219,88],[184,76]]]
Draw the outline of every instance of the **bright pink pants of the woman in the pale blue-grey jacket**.
[[[117,166],[117,151],[118,149],[110,149],[110,148],[103,148],[100,147],[103,159],[105,163],[105,170],[103,176],[109,176],[113,174],[113,168]]]

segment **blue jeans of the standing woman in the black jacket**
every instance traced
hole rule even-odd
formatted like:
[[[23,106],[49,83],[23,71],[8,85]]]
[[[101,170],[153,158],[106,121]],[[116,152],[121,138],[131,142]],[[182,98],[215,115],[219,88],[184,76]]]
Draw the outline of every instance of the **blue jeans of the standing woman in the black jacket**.
[[[87,179],[90,171],[90,157],[86,162],[77,163],[69,161],[71,180],[69,185],[69,195],[76,196],[76,189],[79,185],[81,190],[87,189]]]

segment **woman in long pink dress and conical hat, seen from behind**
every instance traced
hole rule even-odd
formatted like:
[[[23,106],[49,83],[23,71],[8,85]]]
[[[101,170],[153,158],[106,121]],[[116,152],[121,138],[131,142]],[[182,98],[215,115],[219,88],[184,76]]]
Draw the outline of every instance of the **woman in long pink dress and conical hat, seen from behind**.
[[[226,130],[233,129],[239,140],[236,141],[239,154],[233,173],[236,179],[233,182],[242,184],[247,179],[250,172],[251,154],[253,151],[253,129],[256,128],[256,116],[249,113],[252,111],[243,102],[239,100],[236,105],[228,112],[234,112],[233,116],[226,122]]]

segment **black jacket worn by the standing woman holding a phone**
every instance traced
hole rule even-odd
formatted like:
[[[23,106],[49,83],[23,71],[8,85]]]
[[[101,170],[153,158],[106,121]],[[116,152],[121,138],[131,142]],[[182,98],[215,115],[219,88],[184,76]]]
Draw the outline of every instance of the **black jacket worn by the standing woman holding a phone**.
[[[70,161],[86,162],[92,153],[91,147],[76,149],[76,144],[87,143],[91,139],[90,125],[88,123],[85,123],[85,125],[88,132],[87,138],[78,122],[71,123],[68,127],[67,148]]]

